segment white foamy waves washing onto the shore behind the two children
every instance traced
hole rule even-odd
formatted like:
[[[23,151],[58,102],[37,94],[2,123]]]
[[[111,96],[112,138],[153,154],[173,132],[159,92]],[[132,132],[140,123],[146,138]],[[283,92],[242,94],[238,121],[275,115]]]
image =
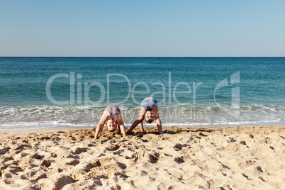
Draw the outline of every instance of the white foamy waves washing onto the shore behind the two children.
[[[123,121],[129,127],[140,113],[140,106],[118,106]],[[93,128],[99,122],[106,105],[91,106],[1,106],[0,129],[31,128]],[[230,111],[229,115],[215,104],[206,106],[159,106],[163,126],[214,126],[214,125],[284,125],[285,105],[247,104]],[[145,123],[153,126],[154,123]]]

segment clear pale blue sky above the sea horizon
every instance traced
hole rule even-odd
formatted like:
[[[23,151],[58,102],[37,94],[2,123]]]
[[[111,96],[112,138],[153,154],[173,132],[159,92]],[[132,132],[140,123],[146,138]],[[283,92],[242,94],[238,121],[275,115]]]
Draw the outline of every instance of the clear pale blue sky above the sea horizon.
[[[0,56],[285,56],[285,1],[1,1]]]

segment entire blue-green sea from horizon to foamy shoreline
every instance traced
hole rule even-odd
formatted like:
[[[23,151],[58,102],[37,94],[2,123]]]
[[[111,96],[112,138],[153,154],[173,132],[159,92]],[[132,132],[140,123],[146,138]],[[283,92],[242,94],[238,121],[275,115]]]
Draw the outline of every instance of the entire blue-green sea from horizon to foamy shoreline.
[[[109,105],[130,127],[146,97],[162,127],[284,125],[284,94],[285,57],[0,57],[0,130],[94,128]]]

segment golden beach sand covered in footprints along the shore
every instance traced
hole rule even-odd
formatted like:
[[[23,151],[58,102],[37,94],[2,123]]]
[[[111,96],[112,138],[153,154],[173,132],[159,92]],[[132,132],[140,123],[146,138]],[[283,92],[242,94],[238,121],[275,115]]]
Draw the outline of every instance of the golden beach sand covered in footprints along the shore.
[[[285,126],[145,130],[0,130],[0,189],[285,189]]]

